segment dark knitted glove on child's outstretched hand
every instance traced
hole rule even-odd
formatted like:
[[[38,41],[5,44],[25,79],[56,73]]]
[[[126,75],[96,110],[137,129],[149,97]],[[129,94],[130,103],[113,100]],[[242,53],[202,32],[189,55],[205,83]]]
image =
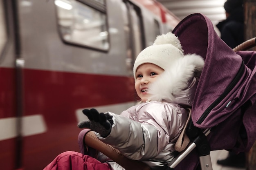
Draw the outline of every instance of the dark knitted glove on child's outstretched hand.
[[[89,120],[80,121],[77,125],[79,128],[89,128],[98,132],[101,137],[107,137],[110,134],[113,120],[108,113],[99,113],[96,109],[84,109],[85,114]]]

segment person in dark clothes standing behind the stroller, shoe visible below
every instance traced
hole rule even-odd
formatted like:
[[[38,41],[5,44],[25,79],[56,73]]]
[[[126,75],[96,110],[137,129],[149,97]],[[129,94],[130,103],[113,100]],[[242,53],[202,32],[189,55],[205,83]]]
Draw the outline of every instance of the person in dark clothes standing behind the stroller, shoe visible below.
[[[224,9],[227,18],[216,26],[220,30],[220,38],[233,49],[244,42],[243,0],[227,0]],[[238,155],[229,152],[226,159],[218,160],[217,163],[222,166],[245,168],[245,152]]]

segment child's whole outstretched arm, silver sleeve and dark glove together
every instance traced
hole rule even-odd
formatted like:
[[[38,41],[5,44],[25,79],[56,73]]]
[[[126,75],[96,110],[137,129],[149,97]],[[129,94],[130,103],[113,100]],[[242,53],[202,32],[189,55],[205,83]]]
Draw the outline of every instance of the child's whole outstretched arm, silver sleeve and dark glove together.
[[[143,109],[139,115],[135,115],[140,117],[137,121],[111,112],[98,113],[95,109],[84,110],[83,113],[90,121],[81,121],[78,126],[98,132],[96,136],[101,141],[117,148],[130,159],[154,159],[170,139],[179,133],[181,113],[176,113],[176,109],[160,102],[154,106],[145,106]],[[166,152],[172,154],[171,151]],[[159,157],[163,159],[162,155]],[[170,156],[170,160],[171,158]]]

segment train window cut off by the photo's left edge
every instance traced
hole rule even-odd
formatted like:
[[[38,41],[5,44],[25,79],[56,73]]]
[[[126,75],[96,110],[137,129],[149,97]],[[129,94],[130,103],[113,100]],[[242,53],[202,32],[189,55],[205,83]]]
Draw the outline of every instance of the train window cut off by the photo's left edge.
[[[6,24],[4,20],[4,4],[3,1],[0,1],[0,54],[2,53],[2,50],[4,48],[4,44],[7,41],[7,30],[6,30]]]

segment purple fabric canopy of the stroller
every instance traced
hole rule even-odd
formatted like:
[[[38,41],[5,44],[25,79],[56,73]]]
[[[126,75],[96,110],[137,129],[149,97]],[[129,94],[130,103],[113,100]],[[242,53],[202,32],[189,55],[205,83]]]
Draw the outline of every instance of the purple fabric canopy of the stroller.
[[[200,13],[184,18],[173,33],[185,54],[196,53],[205,60],[192,106],[194,126],[218,130],[216,137],[208,137],[212,150],[249,150],[256,140],[256,52],[235,53]],[[241,138],[241,129],[249,139]]]

